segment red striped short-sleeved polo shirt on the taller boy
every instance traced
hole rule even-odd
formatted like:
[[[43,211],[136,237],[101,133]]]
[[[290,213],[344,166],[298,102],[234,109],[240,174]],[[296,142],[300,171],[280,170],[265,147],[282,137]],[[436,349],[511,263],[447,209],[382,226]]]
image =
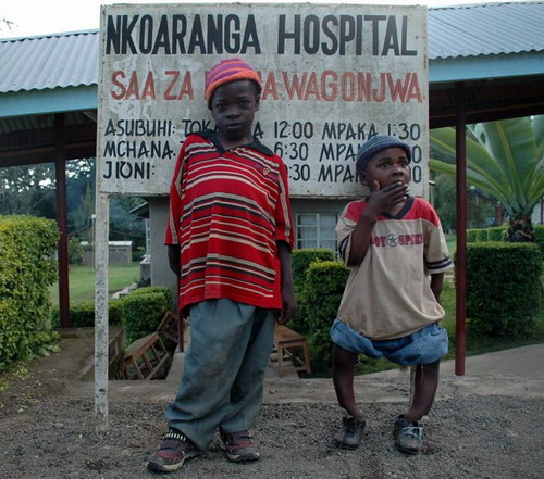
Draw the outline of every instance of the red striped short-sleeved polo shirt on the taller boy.
[[[227,298],[281,308],[276,241],[293,248],[287,173],[259,142],[225,150],[211,130],[185,140],[165,244],[180,244],[180,308]]]

